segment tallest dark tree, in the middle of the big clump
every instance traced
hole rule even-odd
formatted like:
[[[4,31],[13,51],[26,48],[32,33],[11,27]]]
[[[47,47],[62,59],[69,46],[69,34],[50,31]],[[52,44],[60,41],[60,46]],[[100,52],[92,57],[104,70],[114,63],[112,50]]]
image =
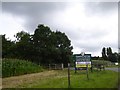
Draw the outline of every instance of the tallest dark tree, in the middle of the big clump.
[[[44,25],[38,25],[33,35],[34,51],[38,63],[47,63],[51,30]]]

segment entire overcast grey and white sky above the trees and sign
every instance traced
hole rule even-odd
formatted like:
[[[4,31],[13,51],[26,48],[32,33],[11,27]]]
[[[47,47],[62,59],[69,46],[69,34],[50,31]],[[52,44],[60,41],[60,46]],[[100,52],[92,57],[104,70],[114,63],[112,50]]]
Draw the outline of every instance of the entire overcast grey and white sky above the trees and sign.
[[[33,34],[38,24],[66,33],[73,53],[101,56],[103,47],[118,49],[118,2],[2,2],[0,34]]]

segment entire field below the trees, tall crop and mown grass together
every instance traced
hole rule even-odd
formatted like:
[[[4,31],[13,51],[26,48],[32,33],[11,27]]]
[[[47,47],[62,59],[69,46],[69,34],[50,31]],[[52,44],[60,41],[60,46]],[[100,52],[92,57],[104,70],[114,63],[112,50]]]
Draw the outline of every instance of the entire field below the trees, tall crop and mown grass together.
[[[95,62],[94,62],[95,63]],[[32,73],[32,74],[30,74]],[[43,70],[41,66],[18,59],[2,60],[3,88],[68,88],[68,70]],[[116,88],[118,72],[70,70],[70,88]]]

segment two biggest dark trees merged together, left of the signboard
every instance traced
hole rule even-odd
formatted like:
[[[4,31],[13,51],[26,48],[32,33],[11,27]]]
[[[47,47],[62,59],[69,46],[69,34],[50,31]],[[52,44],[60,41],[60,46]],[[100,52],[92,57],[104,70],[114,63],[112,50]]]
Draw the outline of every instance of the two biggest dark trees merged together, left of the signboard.
[[[33,35],[36,61],[39,63],[64,63],[70,60],[70,40],[60,31],[52,32],[49,27],[38,25]]]

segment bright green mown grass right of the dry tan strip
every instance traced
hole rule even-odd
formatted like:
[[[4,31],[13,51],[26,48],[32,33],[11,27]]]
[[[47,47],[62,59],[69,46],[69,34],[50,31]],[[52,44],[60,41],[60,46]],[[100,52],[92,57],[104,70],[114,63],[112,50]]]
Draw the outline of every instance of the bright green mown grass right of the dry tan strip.
[[[31,84],[20,85],[25,88],[68,88],[67,70],[56,71],[58,74],[42,78]],[[79,71],[76,74],[71,71],[71,88],[115,88],[118,83],[118,73],[113,71],[89,72],[89,80],[86,71]]]

